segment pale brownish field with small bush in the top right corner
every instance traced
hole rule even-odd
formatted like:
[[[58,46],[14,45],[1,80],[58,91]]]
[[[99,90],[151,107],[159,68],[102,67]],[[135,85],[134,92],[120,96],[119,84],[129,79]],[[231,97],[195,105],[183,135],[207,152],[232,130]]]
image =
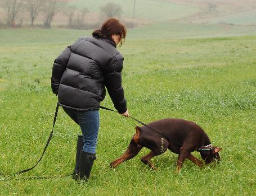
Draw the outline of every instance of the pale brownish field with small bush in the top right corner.
[[[178,0],[169,1],[196,6],[199,12],[189,17],[180,18],[179,21],[196,22],[201,24],[232,24],[232,25],[256,25],[256,1],[252,0]],[[214,8],[210,10],[210,5]]]

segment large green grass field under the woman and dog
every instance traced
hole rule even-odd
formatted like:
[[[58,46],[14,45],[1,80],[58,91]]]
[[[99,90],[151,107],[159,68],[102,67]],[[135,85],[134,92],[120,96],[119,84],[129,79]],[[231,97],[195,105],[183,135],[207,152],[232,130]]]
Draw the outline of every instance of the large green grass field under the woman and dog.
[[[168,34],[162,38],[161,32],[145,37],[142,32],[129,32],[120,48],[130,114],[145,123],[161,118],[196,122],[213,144],[223,147],[221,163],[199,169],[185,161],[181,174],[175,174],[177,155],[168,151],[153,158],[159,171],[151,171],[140,161],[149,151],[144,149],[109,170],[110,162],[126,150],[136,123],[100,111],[91,180],[83,184],[58,177],[73,171],[80,133],[60,109],[42,162],[17,179],[0,181],[1,195],[256,194],[256,36],[199,38],[197,34],[183,39],[194,34],[180,30],[172,33],[177,35],[173,39]],[[0,30],[1,174],[13,174],[38,160],[51,131],[57,100],[50,87],[53,60],[77,37],[89,34],[62,29]],[[108,96],[102,105],[113,108]],[[200,157],[197,152],[194,155]],[[28,180],[27,176],[56,177]]]

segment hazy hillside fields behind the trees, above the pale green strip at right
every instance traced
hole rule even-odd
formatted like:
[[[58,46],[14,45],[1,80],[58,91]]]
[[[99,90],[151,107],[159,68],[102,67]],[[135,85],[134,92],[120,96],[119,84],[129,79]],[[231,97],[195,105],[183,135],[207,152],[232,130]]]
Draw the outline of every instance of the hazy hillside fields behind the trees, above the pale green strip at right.
[[[78,8],[88,8],[84,22],[88,25],[98,24],[104,20],[100,13],[100,7],[111,0],[76,0],[70,1],[70,5]],[[256,3],[253,0],[223,0],[223,1],[190,1],[190,0],[140,0],[136,1],[135,17],[133,18],[133,0],[116,0],[122,6],[122,20],[132,22],[133,26],[143,26],[151,22],[187,22],[214,25],[244,25],[255,26]],[[209,11],[209,4],[215,4],[216,8]],[[68,16],[65,10],[57,13],[53,18],[52,26],[65,27],[68,24]],[[29,14],[24,12],[16,20],[18,24],[29,25]],[[35,19],[35,25],[43,25],[44,15],[39,13]],[[5,11],[0,8],[0,24],[5,23]]]

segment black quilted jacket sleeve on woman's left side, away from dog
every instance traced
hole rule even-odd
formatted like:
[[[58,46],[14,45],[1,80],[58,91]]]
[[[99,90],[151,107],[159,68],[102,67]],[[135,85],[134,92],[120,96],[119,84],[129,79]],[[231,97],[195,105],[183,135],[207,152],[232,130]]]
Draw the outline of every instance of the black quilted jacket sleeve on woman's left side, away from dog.
[[[51,77],[51,87],[54,94],[58,94],[60,80],[63,72],[66,69],[68,60],[71,54],[71,46],[68,46],[60,55],[54,60],[52,66],[52,77]]]

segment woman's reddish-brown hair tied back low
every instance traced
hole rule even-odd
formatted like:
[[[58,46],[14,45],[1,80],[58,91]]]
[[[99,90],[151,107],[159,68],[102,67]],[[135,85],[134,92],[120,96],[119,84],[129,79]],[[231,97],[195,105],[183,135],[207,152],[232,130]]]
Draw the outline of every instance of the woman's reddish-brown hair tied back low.
[[[114,41],[111,35],[119,35],[119,46],[125,41],[126,27],[116,18],[107,19],[102,24],[101,29],[92,32],[92,36],[96,38],[110,39]]]

